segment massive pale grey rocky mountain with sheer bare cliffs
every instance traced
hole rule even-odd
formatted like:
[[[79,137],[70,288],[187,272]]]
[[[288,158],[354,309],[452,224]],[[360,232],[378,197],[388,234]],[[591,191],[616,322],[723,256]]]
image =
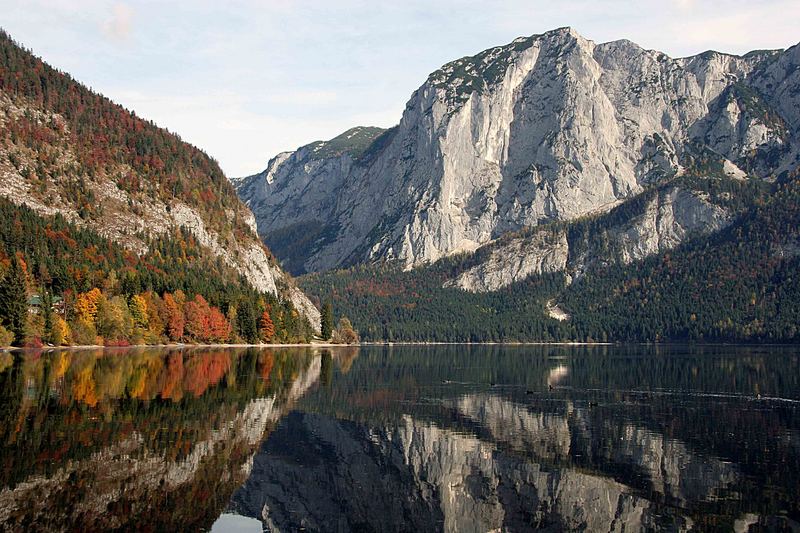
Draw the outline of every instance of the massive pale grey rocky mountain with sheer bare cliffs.
[[[444,65],[394,128],[280,154],[237,192],[283,264],[307,273],[415,267],[658,189],[620,221],[615,246],[630,261],[735,215],[670,185],[676,178],[774,182],[795,172],[798,65],[800,46],[675,59],[560,28]],[[490,290],[564,270],[563,239],[537,239],[494,248],[485,272],[453,283]]]

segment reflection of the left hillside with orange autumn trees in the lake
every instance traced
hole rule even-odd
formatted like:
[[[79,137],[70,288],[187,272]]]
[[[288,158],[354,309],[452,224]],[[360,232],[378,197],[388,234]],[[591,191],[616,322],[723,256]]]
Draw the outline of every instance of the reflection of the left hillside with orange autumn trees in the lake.
[[[0,525],[40,531],[208,528],[320,368],[308,350],[60,351],[2,364]]]

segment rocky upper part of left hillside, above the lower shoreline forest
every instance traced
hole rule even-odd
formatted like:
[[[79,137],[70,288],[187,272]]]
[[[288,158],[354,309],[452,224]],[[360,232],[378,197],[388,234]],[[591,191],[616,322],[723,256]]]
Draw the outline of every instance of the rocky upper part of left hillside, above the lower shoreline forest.
[[[0,32],[0,195],[141,256],[187,229],[253,288],[319,312],[256,234],[216,161],[77,83]]]

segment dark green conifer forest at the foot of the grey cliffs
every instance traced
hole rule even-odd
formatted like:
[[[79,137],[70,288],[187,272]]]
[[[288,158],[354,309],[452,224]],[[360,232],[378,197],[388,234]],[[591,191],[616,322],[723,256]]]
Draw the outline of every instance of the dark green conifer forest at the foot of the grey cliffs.
[[[494,292],[443,287],[474,263],[466,255],[407,272],[313,274],[302,286],[373,341],[797,341],[800,180],[736,190],[741,214],[726,229],[643,261],[598,262],[571,283],[553,273]],[[602,247],[614,216],[568,232]],[[553,307],[568,318],[553,318]]]

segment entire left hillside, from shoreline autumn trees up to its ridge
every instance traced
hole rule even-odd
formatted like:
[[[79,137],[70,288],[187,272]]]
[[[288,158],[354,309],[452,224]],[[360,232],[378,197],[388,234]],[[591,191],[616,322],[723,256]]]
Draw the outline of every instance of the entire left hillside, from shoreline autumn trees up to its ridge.
[[[0,198],[0,344],[298,341],[318,327],[212,158],[2,31]]]

